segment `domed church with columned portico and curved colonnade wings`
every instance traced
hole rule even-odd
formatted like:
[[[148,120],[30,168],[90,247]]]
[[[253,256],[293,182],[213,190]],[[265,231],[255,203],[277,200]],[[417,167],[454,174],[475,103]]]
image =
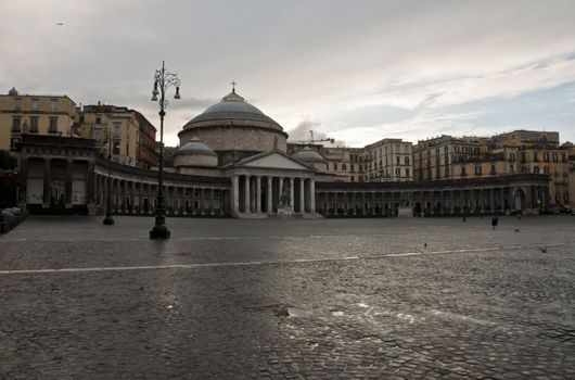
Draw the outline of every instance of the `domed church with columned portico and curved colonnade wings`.
[[[179,132],[165,168],[168,216],[237,218],[392,217],[537,213],[545,175],[434,181],[348,182],[318,153],[288,154],[288,134],[233,89]],[[23,135],[20,201],[30,213],[153,215],[157,170],[108,162],[91,139]]]

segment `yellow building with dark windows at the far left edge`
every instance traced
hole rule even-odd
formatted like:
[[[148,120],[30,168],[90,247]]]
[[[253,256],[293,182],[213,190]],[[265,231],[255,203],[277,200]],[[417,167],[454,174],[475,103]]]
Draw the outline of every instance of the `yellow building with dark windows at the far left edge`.
[[[0,150],[11,150],[22,134],[72,136],[76,104],[66,96],[0,96]]]

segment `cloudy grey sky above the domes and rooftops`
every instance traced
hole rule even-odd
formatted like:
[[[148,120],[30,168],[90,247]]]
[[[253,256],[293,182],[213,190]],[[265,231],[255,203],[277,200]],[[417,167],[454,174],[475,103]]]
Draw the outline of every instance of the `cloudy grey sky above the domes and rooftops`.
[[[232,80],[294,141],[575,141],[574,20],[573,0],[3,0],[0,91],[124,105],[159,129],[164,60],[181,80],[168,145]]]

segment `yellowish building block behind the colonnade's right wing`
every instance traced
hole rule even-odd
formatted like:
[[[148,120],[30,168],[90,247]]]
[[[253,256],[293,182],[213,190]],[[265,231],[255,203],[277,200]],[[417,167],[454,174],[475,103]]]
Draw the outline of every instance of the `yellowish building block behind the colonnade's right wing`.
[[[560,145],[559,134],[515,130],[484,137],[442,136],[413,148],[418,180],[485,178],[513,174],[548,177],[552,205],[570,204],[567,157],[571,144]]]

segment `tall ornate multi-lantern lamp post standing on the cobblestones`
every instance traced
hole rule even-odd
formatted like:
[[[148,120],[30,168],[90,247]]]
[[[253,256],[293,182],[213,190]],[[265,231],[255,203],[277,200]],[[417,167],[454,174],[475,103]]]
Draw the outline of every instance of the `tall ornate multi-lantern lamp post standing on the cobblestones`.
[[[159,165],[157,170],[157,198],[156,198],[156,216],[155,225],[150,230],[150,239],[169,239],[170,231],[166,226],[166,206],[164,205],[164,116],[166,112],[165,107],[168,105],[168,101],[165,99],[166,90],[169,87],[176,87],[175,99],[180,99],[180,79],[176,74],[166,72],[164,61],[162,61],[162,69],[156,69],[154,75],[154,90],[152,91],[152,101],[158,101],[157,96],[159,94]]]

